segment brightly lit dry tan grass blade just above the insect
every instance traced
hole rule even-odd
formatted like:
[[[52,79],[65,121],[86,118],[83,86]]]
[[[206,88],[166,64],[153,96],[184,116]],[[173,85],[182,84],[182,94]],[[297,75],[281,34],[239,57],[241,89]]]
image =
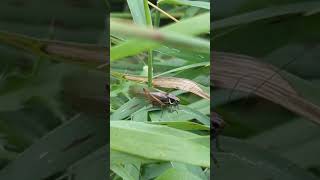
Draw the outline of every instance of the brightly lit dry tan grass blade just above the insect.
[[[148,82],[147,77],[142,77],[142,76],[122,75],[122,78],[130,81],[136,81],[136,82],[142,82],[142,83]],[[152,84],[156,87],[172,88],[172,89],[180,89],[183,91],[188,91],[202,98],[210,100],[210,96],[203,89],[201,89],[197,83],[189,79],[176,78],[176,77],[158,77],[152,80]]]

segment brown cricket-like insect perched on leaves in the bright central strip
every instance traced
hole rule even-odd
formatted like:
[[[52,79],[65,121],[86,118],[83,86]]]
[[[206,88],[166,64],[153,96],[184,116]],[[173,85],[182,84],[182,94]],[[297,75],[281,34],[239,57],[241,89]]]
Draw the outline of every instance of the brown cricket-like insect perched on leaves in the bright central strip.
[[[153,106],[161,107],[161,109],[165,107],[170,108],[170,112],[172,112],[173,107],[178,107],[180,103],[180,99],[170,93],[163,92],[150,92],[147,89],[143,88],[143,92],[145,97],[150,101]],[[174,109],[174,111],[177,111]]]

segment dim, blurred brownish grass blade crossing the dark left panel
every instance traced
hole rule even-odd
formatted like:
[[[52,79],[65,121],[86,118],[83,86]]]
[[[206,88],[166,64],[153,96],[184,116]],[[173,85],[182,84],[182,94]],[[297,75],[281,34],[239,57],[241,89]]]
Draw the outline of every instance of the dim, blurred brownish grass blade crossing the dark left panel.
[[[109,59],[107,47],[95,44],[38,39],[4,31],[0,31],[0,44],[66,63],[84,63],[97,66],[108,63],[107,59]]]

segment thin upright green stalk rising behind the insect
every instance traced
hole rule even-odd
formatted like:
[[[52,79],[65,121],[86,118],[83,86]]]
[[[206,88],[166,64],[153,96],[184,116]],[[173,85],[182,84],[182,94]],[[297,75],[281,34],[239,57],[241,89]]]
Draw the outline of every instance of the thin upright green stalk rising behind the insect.
[[[148,27],[152,28],[152,17],[150,14],[150,9],[148,5],[148,0],[143,0],[144,12],[146,16],[146,23]],[[148,86],[152,87],[152,77],[153,77],[153,52],[148,50]]]

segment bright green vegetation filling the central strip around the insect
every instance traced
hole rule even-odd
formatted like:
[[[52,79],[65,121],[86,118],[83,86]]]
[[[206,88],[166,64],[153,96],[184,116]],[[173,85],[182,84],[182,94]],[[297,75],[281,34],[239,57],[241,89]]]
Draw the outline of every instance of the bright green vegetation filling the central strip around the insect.
[[[210,3],[127,2],[110,22],[110,178],[208,179]],[[151,86],[180,99],[176,112],[131,93]]]

